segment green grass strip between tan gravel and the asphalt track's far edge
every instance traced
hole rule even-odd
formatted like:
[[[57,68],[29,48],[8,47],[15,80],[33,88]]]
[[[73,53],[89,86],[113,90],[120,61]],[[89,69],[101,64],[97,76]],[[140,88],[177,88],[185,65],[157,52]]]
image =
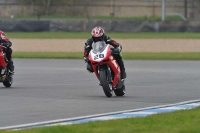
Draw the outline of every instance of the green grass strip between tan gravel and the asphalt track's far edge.
[[[123,53],[123,59],[134,60],[200,60],[195,53]],[[13,58],[83,59],[83,52],[13,52]]]

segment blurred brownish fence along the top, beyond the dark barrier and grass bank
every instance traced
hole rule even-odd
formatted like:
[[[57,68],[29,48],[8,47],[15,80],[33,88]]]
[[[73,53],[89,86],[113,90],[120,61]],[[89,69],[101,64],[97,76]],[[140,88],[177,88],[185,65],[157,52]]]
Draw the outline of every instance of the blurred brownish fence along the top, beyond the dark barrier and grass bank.
[[[48,6],[41,1],[0,0],[0,16],[161,17],[164,1],[166,16],[200,20],[200,0],[48,0]]]

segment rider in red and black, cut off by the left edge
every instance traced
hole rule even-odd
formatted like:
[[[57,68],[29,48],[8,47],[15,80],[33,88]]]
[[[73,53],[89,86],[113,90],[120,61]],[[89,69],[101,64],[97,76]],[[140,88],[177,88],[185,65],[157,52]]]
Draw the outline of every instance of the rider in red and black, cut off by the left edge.
[[[14,73],[14,65],[12,60],[12,49],[10,48],[12,46],[12,43],[10,40],[6,37],[6,34],[0,30],[0,45],[4,46],[4,52],[6,53],[6,58],[8,60],[7,68],[10,71],[10,73]]]

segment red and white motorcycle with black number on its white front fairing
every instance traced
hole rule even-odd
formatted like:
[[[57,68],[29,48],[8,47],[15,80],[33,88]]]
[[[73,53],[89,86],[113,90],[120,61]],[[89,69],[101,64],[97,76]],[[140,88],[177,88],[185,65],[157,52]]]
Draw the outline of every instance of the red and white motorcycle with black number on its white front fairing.
[[[116,96],[123,96],[125,94],[124,79],[121,79],[120,66],[113,57],[112,51],[110,45],[99,41],[92,44],[88,58],[105,95],[112,97],[114,91]]]

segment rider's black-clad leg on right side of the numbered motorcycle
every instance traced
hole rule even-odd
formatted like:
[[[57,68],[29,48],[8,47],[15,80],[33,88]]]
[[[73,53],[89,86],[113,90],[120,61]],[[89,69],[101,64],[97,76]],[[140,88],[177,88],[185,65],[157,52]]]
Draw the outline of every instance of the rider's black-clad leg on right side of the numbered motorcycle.
[[[120,70],[121,70],[121,78],[125,79],[126,78],[126,71],[125,71],[125,67],[124,67],[124,62],[122,61],[122,57],[120,54],[115,54],[114,55],[117,63],[120,66]]]

